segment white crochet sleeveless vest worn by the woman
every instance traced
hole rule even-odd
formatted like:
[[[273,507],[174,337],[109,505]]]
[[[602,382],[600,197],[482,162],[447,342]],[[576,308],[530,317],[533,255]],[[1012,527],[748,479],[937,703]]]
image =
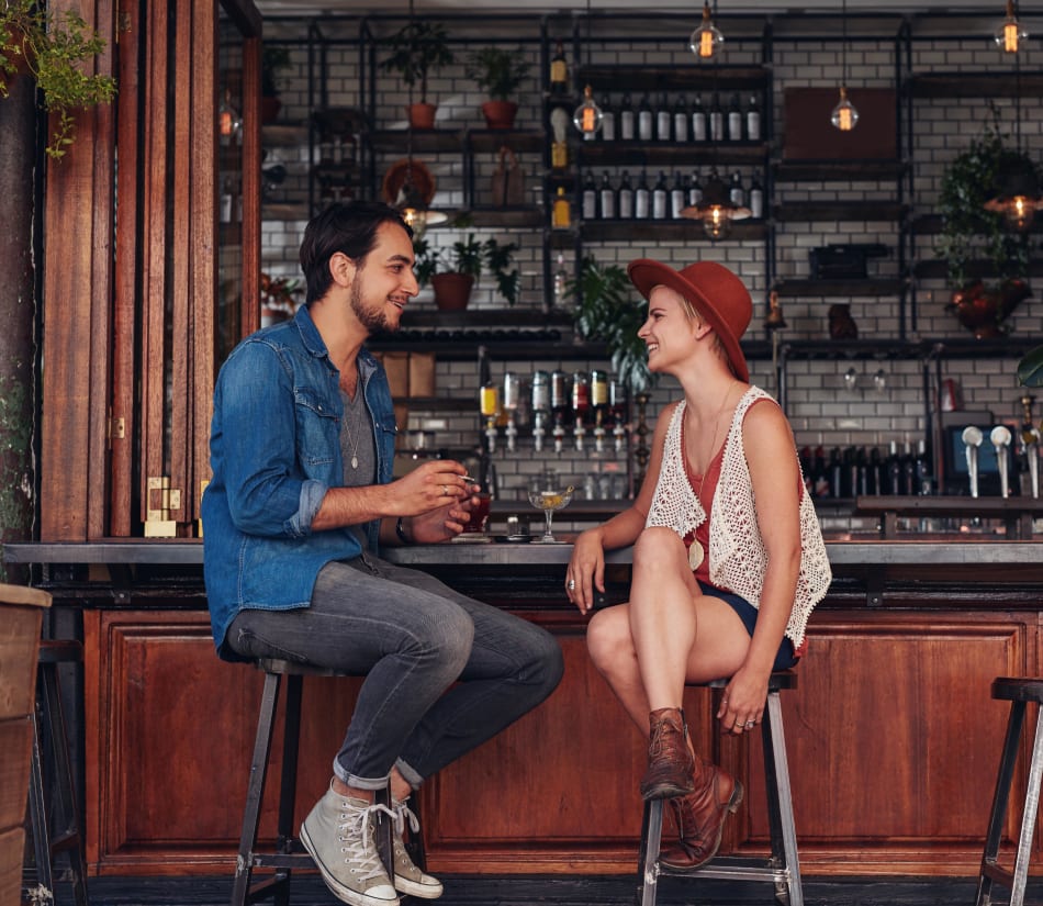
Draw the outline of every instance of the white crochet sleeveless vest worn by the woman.
[[[756,505],[750,467],[742,448],[742,421],[758,400],[771,400],[763,390],[751,387],[736,406],[736,414],[725,440],[720,480],[710,506],[709,577],[719,589],[734,592],[754,607],[761,603],[767,551],[756,525]],[[776,403],[777,405],[777,403]],[[674,410],[666,430],[663,465],[649,507],[646,527],[672,528],[682,538],[706,521],[703,504],[692,490],[684,468],[681,448],[681,425],[684,400]],[[796,454],[795,454],[796,455]],[[799,468],[799,466],[798,466]],[[808,494],[800,496],[800,572],[786,636],[799,646],[815,605],[826,596],[832,571],[819,528],[815,506]]]

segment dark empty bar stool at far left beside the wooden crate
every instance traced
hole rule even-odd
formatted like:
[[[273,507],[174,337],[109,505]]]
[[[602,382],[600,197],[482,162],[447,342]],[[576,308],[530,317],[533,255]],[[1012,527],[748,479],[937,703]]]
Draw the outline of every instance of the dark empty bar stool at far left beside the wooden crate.
[[[54,857],[59,852],[67,852],[77,906],[87,906],[90,902],[87,894],[87,854],[72,781],[69,738],[65,711],[61,707],[61,690],[58,685],[58,664],[82,662],[83,646],[78,641],[43,639],[40,642],[36,668],[37,711],[33,714],[33,757],[29,782],[36,883],[53,901]],[[54,797],[49,812],[44,784],[45,761],[54,767]]]

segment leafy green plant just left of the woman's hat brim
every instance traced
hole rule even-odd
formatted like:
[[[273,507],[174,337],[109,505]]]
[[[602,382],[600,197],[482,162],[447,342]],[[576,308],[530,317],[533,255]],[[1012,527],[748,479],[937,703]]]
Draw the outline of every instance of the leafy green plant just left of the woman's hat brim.
[[[633,286],[618,265],[605,267],[587,256],[580,276],[565,284],[565,294],[575,304],[575,328],[584,339],[605,344],[612,367],[631,394],[655,383],[648,370],[648,348],[638,336],[644,309],[633,301]]]

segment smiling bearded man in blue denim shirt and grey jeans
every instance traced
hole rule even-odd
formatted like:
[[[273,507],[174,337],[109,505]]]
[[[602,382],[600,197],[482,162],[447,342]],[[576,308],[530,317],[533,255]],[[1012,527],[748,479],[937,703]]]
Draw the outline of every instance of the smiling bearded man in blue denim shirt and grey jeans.
[[[562,671],[542,629],[378,557],[462,532],[476,490],[451,460],[392,480],[391,393],[365,343],[397,328],[418,291],[413,262],[412,232],[386,205],[333,204],[307,225],[305,304],[221,369],[203,496],[221,657],[366,675],[329,790],[301,827],[326,884],[355,906],[442,890],[397,838],[385,873],[373,791],[390,776],[404,821],[425,778],[534,708]]]

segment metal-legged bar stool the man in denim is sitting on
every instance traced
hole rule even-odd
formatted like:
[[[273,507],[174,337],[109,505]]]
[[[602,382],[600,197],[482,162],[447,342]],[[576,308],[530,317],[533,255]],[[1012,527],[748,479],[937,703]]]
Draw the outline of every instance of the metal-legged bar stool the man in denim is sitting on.
[[[246,809],[243,815],[243,835],[236,859],[235,879],[232,885],[232,906],[246,906],[265,897],[273,897],[277,906],[287,906],[290,898],[290,874],[293,869],[313,869],[315,863],[307,850],[296,839],[293,827],[293,809],[296,799],[298,743],[301,736],[301,692],[305,676],[348,676],[335,670],[309,667],[290,661],[262,658],[256,664],[265,671],[265,689],[261,693],[260,714],[257,718],[257,738],[254,743],[254,760],[250,763],[250,781],[246,792]],[[287,706],[282,735],[282,776],[279,786],[279,820],[274,850],[257,851],[257,827],[260,823],[268,760],[271,754],[271,737],[279,704],[279,686],[287,678]],[[391,785],[375,792],[378,805],[391,807]],[[377,849],[389,871],[394,871],[392,849],[392,823],[381,815],[377,821]],[[272,869],[273,873],[254,883],[254,869]]]

